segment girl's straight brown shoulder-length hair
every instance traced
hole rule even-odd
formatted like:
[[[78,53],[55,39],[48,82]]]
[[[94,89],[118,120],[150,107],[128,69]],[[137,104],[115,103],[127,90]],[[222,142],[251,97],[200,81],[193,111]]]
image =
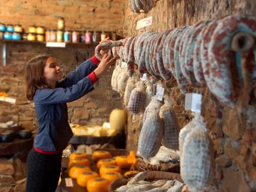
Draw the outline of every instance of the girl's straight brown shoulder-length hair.
[[[36,54],[27,62],[25,80],[26,96],[28,100],[33,100],[37,89],[47,88],[43,78],[46,61],[52,55],[48,53]]]

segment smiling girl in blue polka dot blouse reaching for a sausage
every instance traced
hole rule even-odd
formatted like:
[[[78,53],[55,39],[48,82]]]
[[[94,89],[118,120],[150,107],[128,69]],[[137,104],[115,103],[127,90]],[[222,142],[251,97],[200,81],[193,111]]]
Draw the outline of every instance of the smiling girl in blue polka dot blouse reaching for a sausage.
[[[109,39],[102,42],[105,41]],[[91,92],[93,84],[115,63],[116,57],[110,59],[107,52],[101,50],[104,55],[101,62],[93,56],[64,79],[51,55],[39,54],[28,61],[25,77],[27,98],[34,100],[39,128],[34,148],[28,154],[26,192],[55,192],[62,151],[73,136],[66,103]]]

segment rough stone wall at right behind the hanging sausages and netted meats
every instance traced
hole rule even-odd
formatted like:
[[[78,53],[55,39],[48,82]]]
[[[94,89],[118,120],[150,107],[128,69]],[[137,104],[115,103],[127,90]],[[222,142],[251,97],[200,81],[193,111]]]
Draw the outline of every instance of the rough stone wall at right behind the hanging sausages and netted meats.
[[[160,0],[148,14],[133,13],[127,6],[125,18],[119,22],[117,31],[123,37],[141,34],[145,31],[160,32],[231,13],[256,16],[256,1]],[[149,16],[153,16],[152,25],[136,30],[136,22]],[[166,91],[172,98],[173,108],[182,128],[193,118],[189,111],[184,110],[185,96],[181,94],[176,82],[168,85]],[[212,187],[215,190],[207,191],[255,191],[256,149],[253,147],[256,144],[255,126],[246,124],[243,112],[221,106],[211,94],[208,94],[203,102],[202,115],[207,122],[207,129],[214,143],[216,158],[216,172],[212,178]],[[138,117],[139,120],[140,117]],[[137,150],[138,137],[142,126],[140,121],[138,122],[132,123],[132,115],[129,114],[127,126],[128,150]]]

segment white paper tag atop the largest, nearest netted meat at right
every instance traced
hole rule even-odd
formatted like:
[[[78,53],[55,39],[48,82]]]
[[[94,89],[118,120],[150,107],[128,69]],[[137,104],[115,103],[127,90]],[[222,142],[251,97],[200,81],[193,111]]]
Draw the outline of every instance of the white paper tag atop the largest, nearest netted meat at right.
[[[202,95],[198,93],[186,93],[185,110],[201,113]]]

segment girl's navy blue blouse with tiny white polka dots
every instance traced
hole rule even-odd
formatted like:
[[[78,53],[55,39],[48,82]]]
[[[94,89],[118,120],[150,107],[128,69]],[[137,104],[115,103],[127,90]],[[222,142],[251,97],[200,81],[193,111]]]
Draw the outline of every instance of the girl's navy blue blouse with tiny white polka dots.
[[[43,151],[61,151],[67,147],[73,132],[68,124],[66,102],[75,101],[93,88],[88,77],[97,66],[86,60],[56,84],[55,89],[38,89],[34,96],[39,123],[34,146]]]

